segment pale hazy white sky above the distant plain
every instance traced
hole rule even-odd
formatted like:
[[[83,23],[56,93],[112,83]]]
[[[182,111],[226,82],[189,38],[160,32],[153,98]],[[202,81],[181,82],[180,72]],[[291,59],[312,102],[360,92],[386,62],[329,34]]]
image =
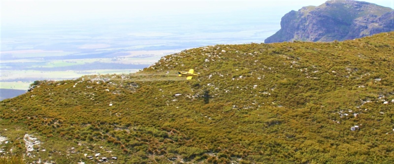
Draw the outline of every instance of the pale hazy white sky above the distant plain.
[[[1,27],[52,22],[261,12],[284,15],[327,0],[1,0]],[[394,0],[365,0],[394,8]],[[261,14],[260,13],[260,14]]]

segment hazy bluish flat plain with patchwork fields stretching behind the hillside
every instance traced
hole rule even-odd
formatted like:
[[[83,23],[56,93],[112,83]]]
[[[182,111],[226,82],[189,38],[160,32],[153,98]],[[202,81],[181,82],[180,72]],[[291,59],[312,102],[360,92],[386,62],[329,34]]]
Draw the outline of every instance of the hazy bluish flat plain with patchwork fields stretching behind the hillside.
[[[189,48],[261,43],[280,29],[278,18],[245,12],[5,27],[0,89],[27,90],[35,80],[134,73]]]

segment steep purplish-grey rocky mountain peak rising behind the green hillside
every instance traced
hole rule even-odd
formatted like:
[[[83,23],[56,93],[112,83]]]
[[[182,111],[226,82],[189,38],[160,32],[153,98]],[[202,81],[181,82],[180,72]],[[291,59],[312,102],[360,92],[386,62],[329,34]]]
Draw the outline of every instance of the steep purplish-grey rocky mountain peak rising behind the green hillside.
[[[341,41],[390,31],[394,31],[393,9],[355,0],[328,0],[285,14],[281,29],[264,42]]]

